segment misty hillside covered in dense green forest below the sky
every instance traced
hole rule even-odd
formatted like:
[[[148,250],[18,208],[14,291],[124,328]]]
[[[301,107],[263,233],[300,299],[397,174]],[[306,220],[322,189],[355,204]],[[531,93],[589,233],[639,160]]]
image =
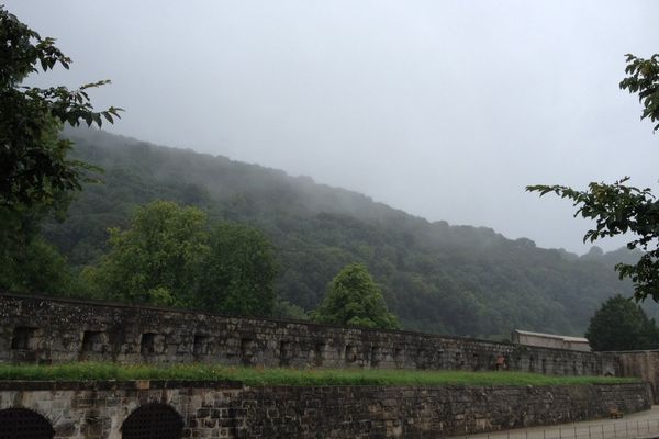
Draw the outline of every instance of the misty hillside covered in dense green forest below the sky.
[[[632,295],[630,283],[613,270],[630,257],[626,250],[578,257],[489,228],[431,223],[309,177],[226,157],[98,130],[67,130],[65,136],[76,143],[75,158],[104,169],[102,183],[77,194],[65,222],[44,225],[46,238],[77,269],[107,251],[109,227],[126,227],[138,205],[170,200],[264,230],[277,249],[279,296],[306,311],[354,262],[368,267],[402,326],[423,331],[581,335],[604,300]]]

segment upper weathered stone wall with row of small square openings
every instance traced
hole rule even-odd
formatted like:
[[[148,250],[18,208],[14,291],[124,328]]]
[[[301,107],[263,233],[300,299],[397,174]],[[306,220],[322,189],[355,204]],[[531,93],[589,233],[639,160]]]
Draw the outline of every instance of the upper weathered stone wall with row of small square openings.
[[[594,352],[395,330],[0,294],[0,363],[103,360],[266,367],[613,373]]]

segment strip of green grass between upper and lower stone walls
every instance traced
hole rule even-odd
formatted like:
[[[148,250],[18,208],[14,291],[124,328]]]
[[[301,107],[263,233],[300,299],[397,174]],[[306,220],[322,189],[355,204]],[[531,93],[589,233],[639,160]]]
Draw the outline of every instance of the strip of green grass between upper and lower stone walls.
[[[555,376],[527,372],[412,371],[386,369],[264,369],[226,365],[0,364],[0,380],[192,380],[246,385],[572,385],[633,383],[614,376]]]

